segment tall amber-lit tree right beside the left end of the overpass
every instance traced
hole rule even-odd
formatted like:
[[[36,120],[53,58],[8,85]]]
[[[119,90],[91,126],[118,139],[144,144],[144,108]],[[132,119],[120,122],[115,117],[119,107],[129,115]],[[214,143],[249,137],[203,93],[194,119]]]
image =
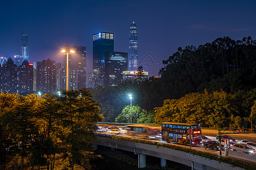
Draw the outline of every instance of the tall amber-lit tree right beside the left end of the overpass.
[[[96,137],[96,124],[102,120],[98,103],[92,100],[90,92],[81,90],[62,90],[61,113],[64,114],[63,149],[70,154],[71,169],[81,160],[85,151],[92,150],[89,142]]]

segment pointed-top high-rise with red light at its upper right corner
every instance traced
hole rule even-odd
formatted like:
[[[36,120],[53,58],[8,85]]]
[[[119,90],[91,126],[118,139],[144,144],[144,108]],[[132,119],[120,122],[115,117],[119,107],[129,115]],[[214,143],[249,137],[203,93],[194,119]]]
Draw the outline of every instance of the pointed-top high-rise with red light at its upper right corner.
[[[18,94],[27,94],[33,91],[33,64],[28,63],[27,59],[18,66]]]

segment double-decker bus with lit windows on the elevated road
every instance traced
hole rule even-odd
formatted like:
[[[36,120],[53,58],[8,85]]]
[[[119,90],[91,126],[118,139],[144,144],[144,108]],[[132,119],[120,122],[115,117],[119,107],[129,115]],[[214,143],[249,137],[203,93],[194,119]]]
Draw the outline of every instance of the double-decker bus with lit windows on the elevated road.
[[[187,145],[190,143],[188,130],[192,129],[191,145],[200,145],[202,132],[199,124],[162,123],[162,140]]]

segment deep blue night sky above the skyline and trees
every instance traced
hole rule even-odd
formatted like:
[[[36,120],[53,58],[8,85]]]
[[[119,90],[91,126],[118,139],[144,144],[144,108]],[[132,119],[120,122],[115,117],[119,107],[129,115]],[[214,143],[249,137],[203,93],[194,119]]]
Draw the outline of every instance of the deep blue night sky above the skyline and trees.
[[[138,28],[139,62],[157,75],[177,48],[218,37],[256,39],[256,1],[1,1],[0,56],[20,54],[28,35],[30,62],[63,62],[62,46],[87,47],[92,70],[92,35],[113,32],[114,50],[128,52],[129,27]]]

